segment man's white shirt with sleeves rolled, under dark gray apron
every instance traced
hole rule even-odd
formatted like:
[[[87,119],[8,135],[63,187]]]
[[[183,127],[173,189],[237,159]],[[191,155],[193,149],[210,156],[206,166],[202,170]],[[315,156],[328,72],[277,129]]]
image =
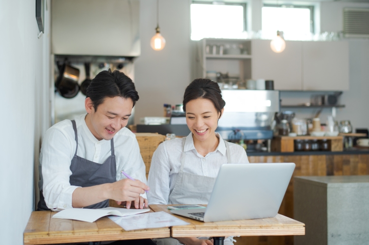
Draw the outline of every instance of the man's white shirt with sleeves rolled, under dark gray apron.
[[[94,163],[104,163],[111,156],[110,140],[97,140],[85,122],[86,114],[75,118],[78,136],[77,156]],[[146,182],[146,168],[140,154],[136,136],[127,128],[114,136],[117,163],[116,180],[126,178],[124,170],[132,178]],[[69,176],[71,160],[76,151],[76,140],[72,122],[64,120],[46,131],[40,153],[41,181],[45,202],[53,211],[72,208],[72,193],[78,188],[71,186]],[[143,194],[146,198],[146,194]]]

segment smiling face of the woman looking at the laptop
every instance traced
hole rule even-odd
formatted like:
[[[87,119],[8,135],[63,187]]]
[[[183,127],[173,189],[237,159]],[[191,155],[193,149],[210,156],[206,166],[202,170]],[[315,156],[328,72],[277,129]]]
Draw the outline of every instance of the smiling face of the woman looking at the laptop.
[[[223,112],[223,110],[222,110]],[[186,123],[193,136],[200,141],[215,135],[220,113],[213,102],[207,99],[196,99],[186,104]]]

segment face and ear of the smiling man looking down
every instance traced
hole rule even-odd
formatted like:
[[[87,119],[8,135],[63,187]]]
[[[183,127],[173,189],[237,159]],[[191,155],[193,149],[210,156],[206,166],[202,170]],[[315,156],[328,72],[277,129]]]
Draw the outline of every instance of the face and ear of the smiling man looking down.
[[[98,140],[110,140],[115,134],[124,128],[132,113],[133,101],[120,96],[105,98],[95,110],[90,98],[86,98],[85,108],[87,113],[86,124],[93,136]]]

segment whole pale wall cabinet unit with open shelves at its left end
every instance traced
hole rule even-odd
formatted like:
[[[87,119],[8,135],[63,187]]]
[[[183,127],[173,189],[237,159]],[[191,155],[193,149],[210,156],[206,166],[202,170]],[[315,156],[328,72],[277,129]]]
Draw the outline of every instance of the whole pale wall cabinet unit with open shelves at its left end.
[[[346,41],[286,41],[282,53],[274,53],[271,40],[203,39],[198,43],[197,77],[207,71],[229,73],[241,80],[273,80],[276,90],[345,91],[349,89],[349,57]],[[241,45],[244,53],[209,54],[215,45]]]

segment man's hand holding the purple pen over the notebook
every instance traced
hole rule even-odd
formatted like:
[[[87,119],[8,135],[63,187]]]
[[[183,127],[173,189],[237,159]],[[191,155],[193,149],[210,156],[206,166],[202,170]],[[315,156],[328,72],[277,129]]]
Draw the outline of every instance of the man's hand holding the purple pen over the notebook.
[[[140,194],[149,190],[150,188],[139,180],[123,179],[109,184],[108,199],[116,200],[117,203],[124,201],[129,203],[130,201],[137,200],[138,205],[140,202]],[[142,201],[142,205],[143,203],[144,201]]]

